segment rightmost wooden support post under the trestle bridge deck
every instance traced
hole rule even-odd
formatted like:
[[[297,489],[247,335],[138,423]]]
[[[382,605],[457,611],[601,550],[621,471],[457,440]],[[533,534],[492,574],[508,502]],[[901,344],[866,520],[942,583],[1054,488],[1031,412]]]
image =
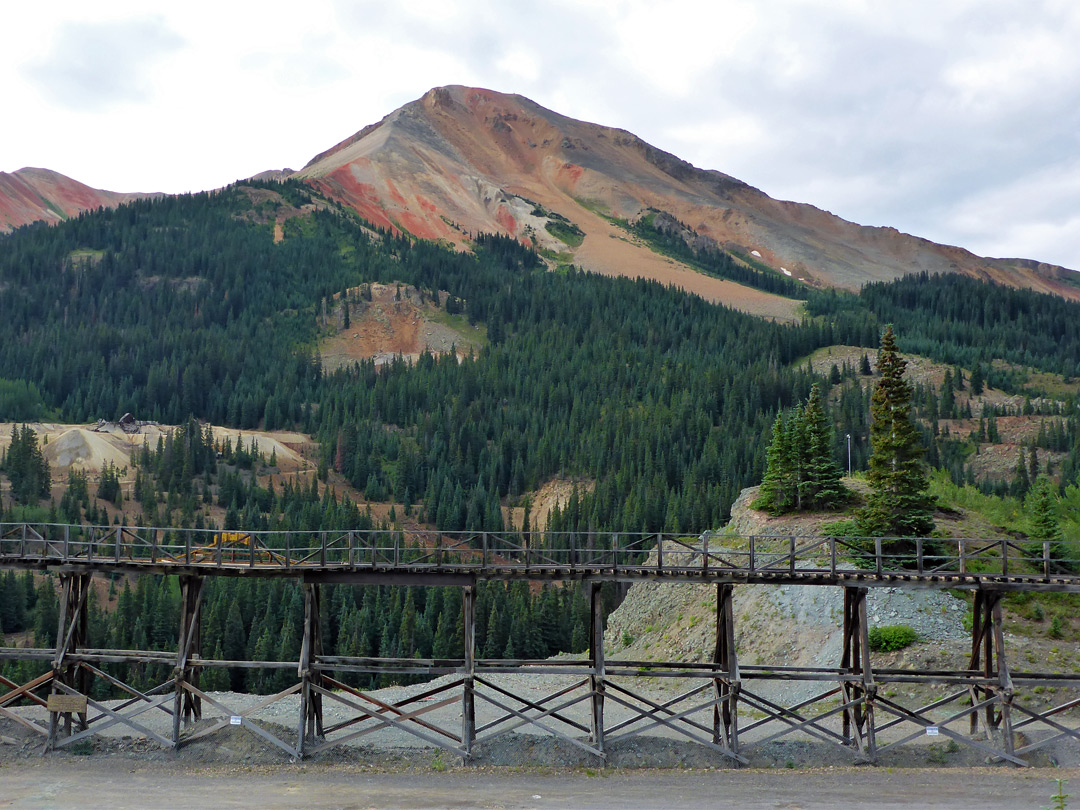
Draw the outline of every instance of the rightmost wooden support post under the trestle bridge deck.
[[[968,669],[982,672],[994,686],[972,686],[971,704],[985,703],[983,730],[987,741],[1000,738],[1009,756],[1013,755],[1012,702],[1013,683],[1005,663],[1005,639],[1001,627],[1001,592],[975,591],[971,623],[971,661]],[[971,714],[971,733],[978,731],[980,713]]]

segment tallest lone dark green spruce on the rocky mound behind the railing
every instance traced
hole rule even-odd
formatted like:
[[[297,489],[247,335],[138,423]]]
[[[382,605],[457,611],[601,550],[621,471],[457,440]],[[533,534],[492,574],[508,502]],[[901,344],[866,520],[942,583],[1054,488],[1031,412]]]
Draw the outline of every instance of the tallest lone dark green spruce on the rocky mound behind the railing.
[[[867,536],[920,537],[934,527],[923,449],[912,421],[912,386],[904,379],[906,366],[892,326],[887,326],[878,350],[881,376],[870,397],[870,495],[856,515],[859,530]]]

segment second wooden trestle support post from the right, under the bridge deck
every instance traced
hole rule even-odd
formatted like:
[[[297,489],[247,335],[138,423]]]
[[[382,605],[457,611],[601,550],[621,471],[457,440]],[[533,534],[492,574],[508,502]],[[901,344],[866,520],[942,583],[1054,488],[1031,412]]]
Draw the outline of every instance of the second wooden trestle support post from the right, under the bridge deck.
[[[843,740],[869,761],[877,759],[874,700],[877,685],[870,666],[869,629],[866,624],[866,589],[843,589],[842,671]]]

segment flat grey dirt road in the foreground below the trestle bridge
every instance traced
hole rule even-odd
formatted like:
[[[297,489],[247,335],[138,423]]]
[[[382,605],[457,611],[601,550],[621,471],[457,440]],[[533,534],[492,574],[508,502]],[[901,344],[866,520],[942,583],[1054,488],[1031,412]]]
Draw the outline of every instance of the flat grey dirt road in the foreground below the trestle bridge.
[[[581,808],[582,810],[1036,810],[1056,789],[1045,770],[580,771],[380,773],[284,766],[184,769],[176,764],[25,760],[0,766],[0,808]],[[1057,771],[1080,785],[1080,770]]]

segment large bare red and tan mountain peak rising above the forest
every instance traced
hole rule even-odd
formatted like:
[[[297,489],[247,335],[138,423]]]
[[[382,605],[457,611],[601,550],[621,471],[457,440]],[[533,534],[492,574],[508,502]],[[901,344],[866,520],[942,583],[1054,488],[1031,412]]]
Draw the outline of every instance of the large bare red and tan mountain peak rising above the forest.
[[[606,217],[632,220],[650,207],[667,212],[721,246],[819,286],[858,289],[867,281],[927,270],[1080,299],[1080,287],[1070,283],[1080,276],[1065,268],[982,258],[773,200],[623,130],[475,87],[432,90],[294,176],[374,222],[417,237],[460,243],[465,232],[502,231],[559,253],[572,251],[576,264],[597,272],[674,281],[714,299],[733,292],[728,283],[656,255]],[[584,231],[580,246],[571,248],[544,229],[551,221],[545,211]]]

